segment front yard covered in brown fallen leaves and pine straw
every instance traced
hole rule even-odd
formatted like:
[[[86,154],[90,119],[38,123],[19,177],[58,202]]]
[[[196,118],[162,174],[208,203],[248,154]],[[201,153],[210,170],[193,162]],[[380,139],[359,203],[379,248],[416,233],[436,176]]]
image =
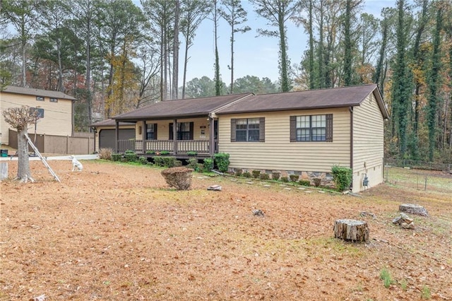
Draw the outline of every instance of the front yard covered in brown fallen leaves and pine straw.
[[[175,191],[155,167],[82,163],[49,161],[61,183],[40,161],[37,182],[1,182],[0,300],[452,300],[447,192],[358,197],[198,173]],[[401,203],[430,216],[404,230]],[[333,238],[344,218],[367,221],[369,243]]]

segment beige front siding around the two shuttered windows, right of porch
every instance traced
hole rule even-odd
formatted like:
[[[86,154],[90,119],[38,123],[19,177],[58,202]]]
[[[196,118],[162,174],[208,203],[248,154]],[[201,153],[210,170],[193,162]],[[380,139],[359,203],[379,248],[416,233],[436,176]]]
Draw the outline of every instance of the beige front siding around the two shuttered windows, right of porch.
[[[290,116],[333,114],[333,142],[290,142]],[[232,118],[265,117],[265,142],[231,142]],[[230,167],[330,172],[350,167],[350,112],[347,108],[220,115],[219,151],[230,154]]]

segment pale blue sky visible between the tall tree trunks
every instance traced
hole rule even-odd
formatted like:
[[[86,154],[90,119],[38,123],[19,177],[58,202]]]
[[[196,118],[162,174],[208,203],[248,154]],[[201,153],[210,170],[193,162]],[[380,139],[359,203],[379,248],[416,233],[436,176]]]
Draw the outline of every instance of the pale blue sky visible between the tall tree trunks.
[[[338,0],[341,1],[341,0]],[[248,1],[242,1],[242,5],[248,12],[246,25],[251,27],[247,33],[237,33],[234,43],[234,78],[246,75],[268,77],[272,81],[278,81],[278,38],[256,37],[257,28],[266,28],[266,20],[259,18],[254,13],[253,7]],[[396,0],[364,0],[362,11],[380,17],[381,8],[395,7]],[[272,28],[274,29],[274,28]],[[230,83],[230,26],[225,20],[220,20],[218,28],[218,52],[220,57],[220,73],[222,81]],[[291,64],[299,64],[302,54],[307,50],[308,35],[303,28],[297,28],[293,23],[287,23],[288,55]],[[214,57],[213,21],[204,20],[196,34],[194,45],[189,49],[189,66],[187,67],[187,81],[192,78],[208,76],[213,79],[215,62]],[[179,53],[179,85],[182,85],[183,52],[181,45]]]

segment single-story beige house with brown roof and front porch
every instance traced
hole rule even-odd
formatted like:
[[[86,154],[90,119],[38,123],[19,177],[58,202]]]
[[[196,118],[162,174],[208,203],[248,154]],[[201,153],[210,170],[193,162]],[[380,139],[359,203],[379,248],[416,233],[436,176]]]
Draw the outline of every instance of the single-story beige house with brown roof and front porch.
[[[383,182],[388,111],[374,84],[168,100],[113,119],[117,129],[119,122],[136,123],[136,140],[117,136],[117,150],[166,150],[179,158],[187,151],[229,153],[232,171],[279,171],[325,182],[339,165],[352,169],[352,191]]]

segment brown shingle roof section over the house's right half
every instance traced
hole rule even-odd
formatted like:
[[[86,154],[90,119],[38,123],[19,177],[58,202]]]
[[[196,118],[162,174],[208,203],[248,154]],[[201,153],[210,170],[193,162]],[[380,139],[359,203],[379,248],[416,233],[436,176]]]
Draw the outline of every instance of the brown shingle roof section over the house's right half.
[[[237,114],[287,110],[310,110],[330,107],[354,107],[359,105],[370,93],[374,93],[383,117],[385,119],[388,118],[388,112],[375,84],[254,95],[251,98],[246,98],[239,102],[235,102],[232,105],[228,105],[215,113]]]

